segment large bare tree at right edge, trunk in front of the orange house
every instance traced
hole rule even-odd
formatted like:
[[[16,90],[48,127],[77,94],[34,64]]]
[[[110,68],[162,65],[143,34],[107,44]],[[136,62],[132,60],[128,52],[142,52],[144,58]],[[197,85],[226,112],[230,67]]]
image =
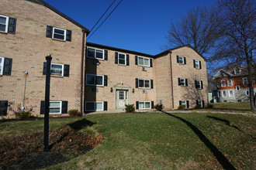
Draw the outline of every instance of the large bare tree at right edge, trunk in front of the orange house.
[[[213,7],[211,22],[219,39],[213,60],[222,66],[246,64],[250,87],[251,110],[256,110],[254,98],[254,41],[256,7],[254,0],[219,0]]]

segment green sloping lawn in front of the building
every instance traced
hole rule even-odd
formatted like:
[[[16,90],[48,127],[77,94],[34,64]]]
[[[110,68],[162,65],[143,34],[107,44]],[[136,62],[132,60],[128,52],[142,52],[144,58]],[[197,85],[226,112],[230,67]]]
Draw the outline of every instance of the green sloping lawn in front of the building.
[[[92,114],[50,119],[50,129],[87,119],[106,138],[50,169],[256,168],[256,118],[230,114]],[[43,120],[0,123],[2,135],[43,129]]]

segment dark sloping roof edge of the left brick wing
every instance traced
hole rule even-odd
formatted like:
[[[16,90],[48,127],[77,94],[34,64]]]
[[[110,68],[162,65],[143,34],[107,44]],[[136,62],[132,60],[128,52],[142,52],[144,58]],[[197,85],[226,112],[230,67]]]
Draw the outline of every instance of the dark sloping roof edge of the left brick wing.
[[[71,19],[70,17],[68,17],[67,15],[64,15],[64,13],[60,12],[59,10],[57,10],[57,8],[54,8],[53,6],[47,4],[47,2],[44,2],[43,0],[26,0],[29,2],[35,2],[38,3],[40,5],[43,5],[47,8],[50,8],[50,10],[52,10],[53,12],[57,13],[58,15],[61,15],[64,19],[67,19],[69,22],[72,22],[75,26],[80,27],[82,30],[84,30],[87,34],[90,33],[90,31],[88,29],[85,28],[85,26],[81,26],[81,24],[79,24],[78,22],[74,21],[73,19]]]

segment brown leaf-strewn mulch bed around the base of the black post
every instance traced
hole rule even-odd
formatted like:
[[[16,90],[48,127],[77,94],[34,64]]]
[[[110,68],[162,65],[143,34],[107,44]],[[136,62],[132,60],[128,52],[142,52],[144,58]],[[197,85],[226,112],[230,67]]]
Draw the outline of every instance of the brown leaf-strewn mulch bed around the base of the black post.
[[[85,154],[102,143],[96,137],[81,134],[65,126],[49,133],[49,152],[43,152],[43,131],[4,136],[0,139],[0,169],[46,168]]]

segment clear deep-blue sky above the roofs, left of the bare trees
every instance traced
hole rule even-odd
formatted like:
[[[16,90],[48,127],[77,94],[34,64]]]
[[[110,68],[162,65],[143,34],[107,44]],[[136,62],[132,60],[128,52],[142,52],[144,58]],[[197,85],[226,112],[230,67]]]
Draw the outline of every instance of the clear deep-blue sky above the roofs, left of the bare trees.
[[[89,30],[112,1],[45,0]],[[112,8],[119,1],[116,0]],[[170,22],[177,22],[189,8],[198,5],[209,7],[214,2],[215,0],[123,0],[88,42],[155,55],[163,51],[162,46],[168,45],[166,36]]]

